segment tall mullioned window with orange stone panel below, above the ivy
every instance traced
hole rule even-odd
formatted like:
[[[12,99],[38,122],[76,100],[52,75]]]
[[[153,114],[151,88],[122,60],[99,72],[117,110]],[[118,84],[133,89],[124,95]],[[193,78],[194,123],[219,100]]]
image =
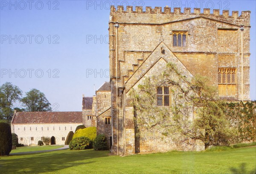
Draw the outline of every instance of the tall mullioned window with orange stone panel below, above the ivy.
[[[219,96],[236,96],[237,70],[231,67],[218,68]]]

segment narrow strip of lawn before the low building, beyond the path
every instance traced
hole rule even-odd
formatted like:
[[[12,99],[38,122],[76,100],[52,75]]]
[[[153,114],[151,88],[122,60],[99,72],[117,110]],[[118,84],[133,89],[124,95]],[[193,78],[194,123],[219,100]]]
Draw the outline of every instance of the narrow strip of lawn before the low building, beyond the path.
[[[27,152],[27,151],[44,151],[44,150],[51,150],[55,148],[61,148],[63,145],[42,145],[42,146],[25,146],[25,147],[18,147],[11,151],[12,153],[19,153],[19,152]]]

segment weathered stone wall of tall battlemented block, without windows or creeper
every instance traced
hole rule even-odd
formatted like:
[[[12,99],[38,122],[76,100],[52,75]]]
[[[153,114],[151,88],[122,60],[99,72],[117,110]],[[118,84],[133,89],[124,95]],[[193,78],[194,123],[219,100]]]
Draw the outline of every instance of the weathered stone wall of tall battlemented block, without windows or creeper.
[[[171,8],[167,7],[164,11],[160,7],[155,9],[146,7],[146,11],[136,7],[133,11],[131,6],[124,11],[122,6],[117,9],[111,7],[109,49],[113,154],[134,154],[135,144],[137,144],[133,137],[134,128],[132,126],[125,128],[125,123],[128,121],[126,118],[131,120],[133,117],[131,111],[128,112],[125,109],[126,92],[138,82],[141,76],[145,76],[149,71],[148,68],[153,67],[155,63],[158,66],[155,71],[161,71],[166,60],[175,60],[166,57],[156,62],[162,56],[160,52],[155,51],[160,49],[158,48],[160,43],[164,43],[165,50],[172,53],[171,57],[177,57],[189,73],[208,76],[210,83],[216,87],[218,87],[219,67],[236,68],[236,95],[226,99],[250,100],[250,11],[242,11],[240,16],[238,11],[232,11],[231,16],[229,11],[223,11],[222,15],[219,14],[219,10],[214,10],[213,14],[209,12],[209,9],[204,9],[204,13],[200,13],[200,9],[194,9],[192,13],[191,9],[184,9],[184,13],[180,13],[180,8],[175,8],[172,12]],[[115,27],[117,23],[118,27]],[[244,26],[242,32],[241,25]],[[186,31],[186,46],[173,46],[175,31]],[[241,96],[241,34],[243,34],[244,56],[243,97]],[[149,57],[151,60],[148,60]],[[118,77],[118,108],[116,107],[116,76]],[[123,143],[126,138],[129,141],[128,145]],[[158,139],[145,142],[147,148],[143,150],[144,152],[173,149],[166,146],[151,147],[150,143],[160,142]],[[180,148],[183,148],[182,145]],[[177,149],[180,148],[177,147]],[[193,148],[201,149],[198,146],[191,146],[187,150]]]

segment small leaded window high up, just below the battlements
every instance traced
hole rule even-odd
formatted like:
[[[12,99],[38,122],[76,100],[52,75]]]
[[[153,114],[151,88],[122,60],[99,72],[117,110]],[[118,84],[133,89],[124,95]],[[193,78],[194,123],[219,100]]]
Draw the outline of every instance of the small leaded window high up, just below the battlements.
[[[186,47],[187,38],[188,38],[187,36],[188,36],[188,31],[172,31],[172,46]]]

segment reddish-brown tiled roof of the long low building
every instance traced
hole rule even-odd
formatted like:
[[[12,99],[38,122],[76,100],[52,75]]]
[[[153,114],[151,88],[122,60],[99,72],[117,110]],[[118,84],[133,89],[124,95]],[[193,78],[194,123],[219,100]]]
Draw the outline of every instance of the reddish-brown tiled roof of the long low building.
[[[82,122],[82,112],[17,112],[12,124]]]

